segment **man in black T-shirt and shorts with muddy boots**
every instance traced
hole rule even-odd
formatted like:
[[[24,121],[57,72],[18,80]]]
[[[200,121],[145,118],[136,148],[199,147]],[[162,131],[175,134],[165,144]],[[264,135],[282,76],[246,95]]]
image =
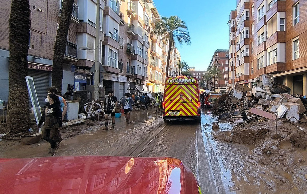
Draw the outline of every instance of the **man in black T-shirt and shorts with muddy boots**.
[[[115,109],[118,105],[118,101],[115,95],[113,95],[113,91],[109,90],[108,91],[108,99],[107,99],[107,107],[106,107],[106,111],[104,113],[104,125],[105,128],[103,130],[108,130],[108,118],[109,115],[111,115],[111,119],[112,119],[112,126],[111,126],[111,130],[115,128]]]

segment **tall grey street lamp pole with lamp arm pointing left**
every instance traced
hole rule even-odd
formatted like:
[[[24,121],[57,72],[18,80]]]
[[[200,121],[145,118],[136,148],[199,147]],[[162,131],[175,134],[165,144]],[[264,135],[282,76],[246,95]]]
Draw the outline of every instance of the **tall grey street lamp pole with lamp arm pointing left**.
[[[80,46],[79,49],[86,51],[95,51],[94,63],[94,99],[99,100],[99,77],[100,77],[100,0],[97,0],[96,6],[96,34],[95,34],[95,49],[89,49],[87,46]],[[102,79],[103,80],[103,79]]]

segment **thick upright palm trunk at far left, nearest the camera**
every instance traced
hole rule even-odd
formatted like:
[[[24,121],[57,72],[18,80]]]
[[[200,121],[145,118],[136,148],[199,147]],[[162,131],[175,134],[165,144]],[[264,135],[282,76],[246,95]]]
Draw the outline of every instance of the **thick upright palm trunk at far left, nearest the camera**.
[[[12,0],[10,14],[9,99],[6,127],[14,133],[29,129],[28,45],[30,31],[29,0]]]

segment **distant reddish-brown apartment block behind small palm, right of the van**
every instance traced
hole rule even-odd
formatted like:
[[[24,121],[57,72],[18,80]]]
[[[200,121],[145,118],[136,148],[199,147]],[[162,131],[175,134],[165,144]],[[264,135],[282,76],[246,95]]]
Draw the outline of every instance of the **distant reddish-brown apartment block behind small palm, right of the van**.
[[[217,74],[215,80],[209,80],[208,88],[211,91],[220,93],[226,92],[229,78],[229,50],[218,49],[214,51],[209,67],[217,67],[220,73]],[[213,82],[215,82],[213,84]],[[214,88],[215,87],[215,88]]]

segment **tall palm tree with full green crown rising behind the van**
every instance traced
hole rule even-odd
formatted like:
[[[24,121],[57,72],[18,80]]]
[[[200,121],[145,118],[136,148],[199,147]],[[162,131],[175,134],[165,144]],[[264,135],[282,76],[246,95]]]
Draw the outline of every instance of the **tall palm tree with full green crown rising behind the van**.
[[[166,62],[166,77],[169,74],[169,60],[171,51],[175,46],[175,40],[177,40],[182,47],[182,43],[190,45],[191,37],[188,33],[188,27],[185,22],[178,16],[162,17],[161,21],[157,22],[153,32],[154,34],[162,36],[162,40],[169,41],[169,51]]]

